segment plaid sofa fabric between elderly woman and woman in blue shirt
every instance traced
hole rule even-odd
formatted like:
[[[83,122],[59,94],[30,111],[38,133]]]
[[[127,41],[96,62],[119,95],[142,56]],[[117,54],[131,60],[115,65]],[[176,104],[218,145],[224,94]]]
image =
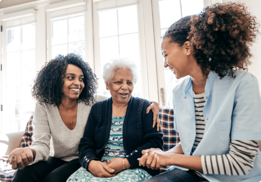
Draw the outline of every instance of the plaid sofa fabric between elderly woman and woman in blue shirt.
[[[163,151],[167,151],[175,147],[179,143],[179,136],[174,129],[174,113],[173,109],[159,108],[158,118],[162,125],[163,135]],[[170,166],[160,168],[160,173],[167,171]]]

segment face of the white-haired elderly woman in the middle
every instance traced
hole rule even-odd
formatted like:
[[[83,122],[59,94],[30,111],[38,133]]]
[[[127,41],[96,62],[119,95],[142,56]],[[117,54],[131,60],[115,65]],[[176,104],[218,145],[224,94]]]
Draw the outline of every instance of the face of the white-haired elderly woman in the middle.
[[[113,102],[118,104],[128,104],[133,90],[133,76],[130,70],[120,68],[114,72],[110,82],[106,82]]]

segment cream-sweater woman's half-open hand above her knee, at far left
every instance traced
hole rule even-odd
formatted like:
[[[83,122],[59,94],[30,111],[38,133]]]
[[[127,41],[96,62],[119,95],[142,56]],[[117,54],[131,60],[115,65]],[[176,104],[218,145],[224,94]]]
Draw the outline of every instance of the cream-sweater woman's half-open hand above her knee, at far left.
[[[24,169],[33,162],[33,152],[30,147],[14,149],[6,163],[12,165],[12,169]]]

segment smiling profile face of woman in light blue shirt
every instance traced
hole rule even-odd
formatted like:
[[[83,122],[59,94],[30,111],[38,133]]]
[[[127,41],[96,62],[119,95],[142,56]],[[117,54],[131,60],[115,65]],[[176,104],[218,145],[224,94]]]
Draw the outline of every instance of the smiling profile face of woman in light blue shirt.
[[[160,49],[164,56],[164,67],[169,69],[176,75],[176,78],[182,78],[189,75],[189,55],[190,45],[189,42],[185,42],[180,46],[177,43],[170,42],[170,38],[163,39]]]

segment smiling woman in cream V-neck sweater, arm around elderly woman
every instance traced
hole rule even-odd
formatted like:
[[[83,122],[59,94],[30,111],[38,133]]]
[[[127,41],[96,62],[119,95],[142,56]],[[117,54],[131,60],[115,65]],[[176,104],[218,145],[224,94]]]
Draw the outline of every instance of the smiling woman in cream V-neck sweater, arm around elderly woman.
[[[95,95],[96,89],[96,75],[76,54],[58,55],[38,72],[32,145],[13,150],[7,160],[17,169],[14,182],[65,182],[81,167],[78,145],[91,107],[107,99]],[[158,111],[156,104],[150,109]]]

